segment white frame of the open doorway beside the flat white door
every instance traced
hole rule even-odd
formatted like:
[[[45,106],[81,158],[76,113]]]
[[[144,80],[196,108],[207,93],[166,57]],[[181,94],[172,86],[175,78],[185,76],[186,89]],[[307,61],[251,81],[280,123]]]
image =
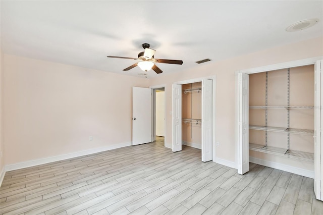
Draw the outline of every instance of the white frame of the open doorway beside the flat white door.
[[[167,128],[167,115],[166,115],[166,107],[167,107],[167,91],[166,91],[166,84],[161,84],[161,85],[154,85],[154,86],[149,86],[150,89],[152,89],[152,99],[151,99],[151,114],[152,114],[152,126],[151,126],[151,134],[152,134],[152,137],[151,137],[151,141],[154,141],[156,140],[156,89],[159,89],[159,88],[164,88],[164,93],[165,93],[165,100],[164,100],[164,115],[165,115],[165,123],[164,123],[164,139],[166,140],[166,135],[167,135],[167,131],[166,131],[166,128]],[[165,141],[165,146],[166,146],[166,141]]]

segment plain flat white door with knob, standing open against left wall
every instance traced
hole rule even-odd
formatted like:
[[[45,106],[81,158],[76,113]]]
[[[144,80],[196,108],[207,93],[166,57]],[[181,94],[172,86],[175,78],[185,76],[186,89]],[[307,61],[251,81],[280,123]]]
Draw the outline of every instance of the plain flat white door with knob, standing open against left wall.
[[[151,140],[151,89],[132,87],[132,145]]]

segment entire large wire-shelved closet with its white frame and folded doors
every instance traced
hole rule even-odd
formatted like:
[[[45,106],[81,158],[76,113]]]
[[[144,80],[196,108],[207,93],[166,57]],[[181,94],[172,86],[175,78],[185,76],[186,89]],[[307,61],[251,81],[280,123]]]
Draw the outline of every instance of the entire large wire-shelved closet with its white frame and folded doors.
[[[251,162],[313,178],[323,200],[322,84],[322,57],[236,72],[239,174]]]

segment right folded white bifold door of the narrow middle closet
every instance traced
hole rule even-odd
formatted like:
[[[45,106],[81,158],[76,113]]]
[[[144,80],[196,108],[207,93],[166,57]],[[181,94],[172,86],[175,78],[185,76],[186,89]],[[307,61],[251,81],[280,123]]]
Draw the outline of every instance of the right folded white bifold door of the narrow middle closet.
[[[202,162],[212,160],[212,80],[202,80]]]

